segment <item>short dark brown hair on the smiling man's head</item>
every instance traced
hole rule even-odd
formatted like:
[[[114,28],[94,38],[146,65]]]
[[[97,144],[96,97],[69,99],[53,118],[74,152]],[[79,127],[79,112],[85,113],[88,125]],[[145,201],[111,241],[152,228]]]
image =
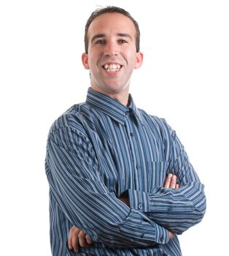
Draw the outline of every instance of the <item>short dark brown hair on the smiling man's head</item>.
[[[104,8],[95,10],[94,12],[92,12],[90,17],[88,18],[88,21],[85,25],[85,53],[88,53],[88,29],[89,29],[90,23],[92,23],[93,20],[95,18],[97,18],[99,15],[102,15],[104,13],[114,13],[114,12],[125,15],[133,22],[135,29],[136,29],[136,52],[139,52],[139,50],[140,50],[139,24],[136,22],[136,20],[134,20],[134,18],[126,10],[124,10],[120,7],[108,6],[108,7],[104,7]]]

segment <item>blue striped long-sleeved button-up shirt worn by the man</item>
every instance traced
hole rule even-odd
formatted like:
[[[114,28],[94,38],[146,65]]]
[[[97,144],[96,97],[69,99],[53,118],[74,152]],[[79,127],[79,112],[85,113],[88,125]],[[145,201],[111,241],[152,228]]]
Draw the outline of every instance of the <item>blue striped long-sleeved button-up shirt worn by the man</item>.
[[[50,128],[45,161],[54,256],[182,255],[177,236],[203,218],[206,198],[193,166],[162,118],[88,89]],[[174,173],[179,189],[165,189]],[[125,192],[130,206],[117,199]],[[70,228],[94,244],[71,252]]]

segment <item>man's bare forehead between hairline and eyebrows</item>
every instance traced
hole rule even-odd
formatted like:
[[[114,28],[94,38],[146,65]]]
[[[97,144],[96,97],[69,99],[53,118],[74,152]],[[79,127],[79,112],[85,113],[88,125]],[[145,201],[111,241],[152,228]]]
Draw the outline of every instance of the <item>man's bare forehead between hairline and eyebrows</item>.
[[[131,36],[136,35],[133,21],[127,16],[118,12],[107,12],[96,17],[88,28],[88,39],[95,34],[119,34],[125,33]]]

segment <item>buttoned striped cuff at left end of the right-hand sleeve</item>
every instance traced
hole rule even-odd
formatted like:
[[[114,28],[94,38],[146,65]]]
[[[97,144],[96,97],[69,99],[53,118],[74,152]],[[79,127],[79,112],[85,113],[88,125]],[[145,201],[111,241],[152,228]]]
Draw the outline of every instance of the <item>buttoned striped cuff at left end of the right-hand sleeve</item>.
[[[144,213],[150,211],[150,199],[148,193],[128,189],[128,198],[131,208]]]

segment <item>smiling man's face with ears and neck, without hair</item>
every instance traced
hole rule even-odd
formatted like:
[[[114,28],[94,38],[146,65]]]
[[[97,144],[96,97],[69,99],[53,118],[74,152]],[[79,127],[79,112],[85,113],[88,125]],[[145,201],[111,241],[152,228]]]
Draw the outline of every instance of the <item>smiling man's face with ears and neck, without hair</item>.
[[[142,53],[136,53],[135,26],[125,15],[105,13],[90,24],[88,54],[82,54],[82,63],[90,69],[92,89],[128,97],[131,74],[141,67],[142,58]]]

